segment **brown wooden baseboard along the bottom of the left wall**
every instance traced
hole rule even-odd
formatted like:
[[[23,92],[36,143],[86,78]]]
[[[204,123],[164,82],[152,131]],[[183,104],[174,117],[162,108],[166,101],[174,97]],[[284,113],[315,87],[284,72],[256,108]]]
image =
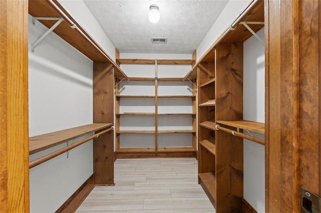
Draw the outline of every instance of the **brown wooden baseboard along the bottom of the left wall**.
[[[88,194],[95,187],[95,176],[92,174],[88,179],[64,202],[56,213],[75,212]]]

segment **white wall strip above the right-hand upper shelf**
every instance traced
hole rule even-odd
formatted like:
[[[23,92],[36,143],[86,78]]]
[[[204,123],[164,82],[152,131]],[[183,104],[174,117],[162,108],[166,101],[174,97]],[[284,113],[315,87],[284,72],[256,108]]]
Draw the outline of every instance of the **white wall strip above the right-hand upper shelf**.
[[[217,40],[252,0],[230,0],[196,49],[197,60]]]

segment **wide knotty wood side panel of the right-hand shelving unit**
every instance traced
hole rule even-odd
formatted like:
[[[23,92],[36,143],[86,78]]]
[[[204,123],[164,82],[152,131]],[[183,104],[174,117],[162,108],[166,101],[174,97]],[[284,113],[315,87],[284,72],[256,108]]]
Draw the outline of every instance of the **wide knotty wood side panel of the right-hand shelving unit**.
[[[216,47],[216,120],[243,118],[243,43]],[[243,139],[216,131],[217,212],[241,212]]]

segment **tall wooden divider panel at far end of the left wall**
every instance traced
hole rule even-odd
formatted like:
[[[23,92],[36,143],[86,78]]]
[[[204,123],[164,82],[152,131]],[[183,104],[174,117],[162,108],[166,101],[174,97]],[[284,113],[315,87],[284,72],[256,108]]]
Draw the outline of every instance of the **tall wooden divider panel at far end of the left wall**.
[[[109,62],[94,61],[93,117],[94,123],[114,122],[114,69]],[[114,131],[94,139],[95,184],[114,184]]]

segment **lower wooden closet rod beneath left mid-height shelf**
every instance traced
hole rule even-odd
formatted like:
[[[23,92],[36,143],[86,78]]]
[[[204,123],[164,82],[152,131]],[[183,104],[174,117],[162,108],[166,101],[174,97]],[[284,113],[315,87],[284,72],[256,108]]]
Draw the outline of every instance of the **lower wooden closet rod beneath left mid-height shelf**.
[[[78,145],[81,145],[81,144],[87,142],[88,140],[91,140],[93,138],[97,138],[99,135],[104,134],[104,133],[106,133],[108,131],[111,131],[111,130],[114,130],[114,126],[111,126],[110,128],[107,128],[106,130],[100,131],[100,132],[98,132],[98,133],[96,133],[96,134],[94,134],[92,136],[89,136],[89,137],[87,137],[85,139],[79,140],[79,141],[77,141],[77,142],[75,142],[75,143],[73,143],[71,145],[68,145],[68,146],[66,146],[64,148],[58,149],[57,151],[49,153],[49,154],[47,154],[45,156],[39,157],[38,159],[35,159],[35,160],[29,162],[29,168],[33,168],[33,167],[35,167],[35,166],[37,166],[37,165],[39,165],[39,164],[41,164],[43,162],[46,162],[46,161],[48,161],[48,160],[50,160],[50,159],[52,159],[52,158],[64,153],[64,152],[69,151],[70,149],[73,149],[73,148],[77,147]]]

